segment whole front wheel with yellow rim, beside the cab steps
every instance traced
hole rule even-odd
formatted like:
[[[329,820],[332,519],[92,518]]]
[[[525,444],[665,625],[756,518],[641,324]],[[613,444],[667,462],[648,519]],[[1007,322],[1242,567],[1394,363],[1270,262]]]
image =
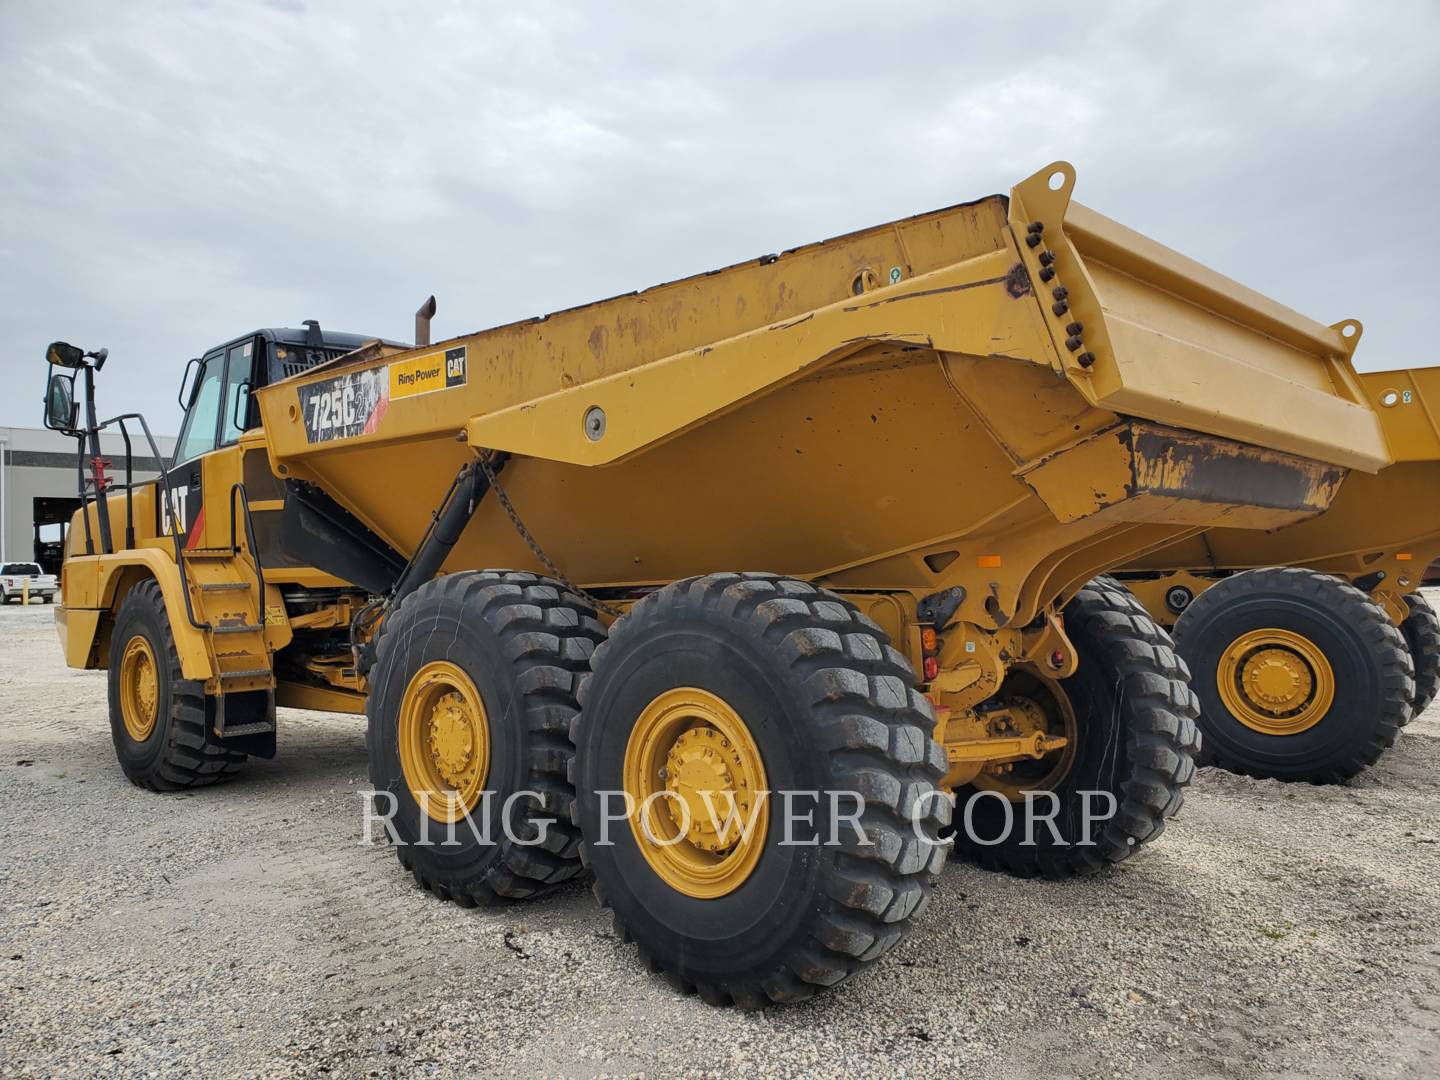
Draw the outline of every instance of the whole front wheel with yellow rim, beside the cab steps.
[[[180,671],[156,582],[141,582],[109,638],[109,734],[130,782],[150,791],[203,788],[235,776],[245,755],[207,737],[204,684]]]

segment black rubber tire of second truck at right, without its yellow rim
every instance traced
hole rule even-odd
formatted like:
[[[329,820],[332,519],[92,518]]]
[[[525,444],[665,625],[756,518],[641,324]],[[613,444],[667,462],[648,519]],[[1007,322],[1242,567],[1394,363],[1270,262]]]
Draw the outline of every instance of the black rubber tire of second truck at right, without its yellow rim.
[[[1333,672],[1329,710],[1293,734],[1254,730],[1224,704],[1217,672],[1241,634],[1276,628],[1319,648]],[[1395,742],[1410,720],[1414,668],[1400,629],[1349,582],[1299,567],[1246,570],[1215,583],[1175,624],[1201,704],[1201,765],[1277,780],[1339,783]]]

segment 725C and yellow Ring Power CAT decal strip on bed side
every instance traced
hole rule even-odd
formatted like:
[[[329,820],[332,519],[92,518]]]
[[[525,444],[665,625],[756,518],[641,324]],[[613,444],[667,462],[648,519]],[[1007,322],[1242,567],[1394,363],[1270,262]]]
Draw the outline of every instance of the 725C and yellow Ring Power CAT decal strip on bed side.
[[[305,439],[369,435],[380,426],[390,402],[464,386],[467,373],[465,347],[459,346],[301,386],[297,392]]]

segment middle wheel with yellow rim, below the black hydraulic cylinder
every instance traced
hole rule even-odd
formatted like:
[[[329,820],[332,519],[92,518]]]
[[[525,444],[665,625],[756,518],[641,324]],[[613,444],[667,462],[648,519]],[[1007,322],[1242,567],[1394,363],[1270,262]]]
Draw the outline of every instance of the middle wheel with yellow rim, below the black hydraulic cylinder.
[[[564,586],[503,570],[438,577],[384,619],[366,704],[370,782],[422,888],[474,907],[580,873],[570,721],[603,638]],[[445,812],[451,783],[471,785],[469,821]]]

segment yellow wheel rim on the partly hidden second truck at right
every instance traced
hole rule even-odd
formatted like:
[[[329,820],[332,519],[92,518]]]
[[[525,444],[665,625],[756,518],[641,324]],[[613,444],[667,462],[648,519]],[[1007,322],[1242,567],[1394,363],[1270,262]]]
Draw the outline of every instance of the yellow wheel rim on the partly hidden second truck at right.
[[[1215,671],[1220,700],[1261,734],[1299,734],[1335,704],[1335,672],[1320,648],[1287,629],[1253,629],[1236,638]]]

